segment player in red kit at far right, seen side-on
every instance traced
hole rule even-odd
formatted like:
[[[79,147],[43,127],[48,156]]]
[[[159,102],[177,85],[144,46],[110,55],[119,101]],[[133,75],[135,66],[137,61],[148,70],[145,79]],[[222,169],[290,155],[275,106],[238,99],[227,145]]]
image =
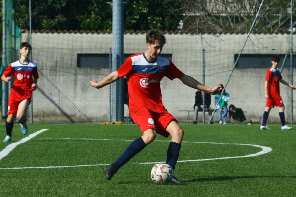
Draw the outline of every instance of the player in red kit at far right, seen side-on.
[[[296,87],[282,79],[282,75],[279,69],[277,68],[279,62],[280,62],[280,57],[278,55],[273,55],[271,58],[272,66],[271,68],[268,69],[266,73],[264,89],[265,89],[265,99],[267,99],[267,101],[266,101],[266,108],[263,113],[262,125],[260,126],[261,130],[270,130],[270,128],[266,125],[266,122],[268,119],[269,112],[274,106],[279,107],[279,115],[282,123],[281,129],[282,130],[292,129],[292,127],[289,127],[285,123],[285,113],[284,113],[285,106],[280,96],[280,82],[286,86],[289,86],[293,90],[295,90]]]

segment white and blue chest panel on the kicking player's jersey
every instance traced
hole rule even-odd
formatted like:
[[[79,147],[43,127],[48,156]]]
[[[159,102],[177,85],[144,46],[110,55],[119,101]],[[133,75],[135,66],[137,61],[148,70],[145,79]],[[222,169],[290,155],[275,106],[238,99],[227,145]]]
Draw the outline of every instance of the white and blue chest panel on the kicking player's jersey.
[[[156,74],[166,72],[170,61],[163,57],[158,57],[155,62],[149,62],[143,54],[132,57],[133,73]]]

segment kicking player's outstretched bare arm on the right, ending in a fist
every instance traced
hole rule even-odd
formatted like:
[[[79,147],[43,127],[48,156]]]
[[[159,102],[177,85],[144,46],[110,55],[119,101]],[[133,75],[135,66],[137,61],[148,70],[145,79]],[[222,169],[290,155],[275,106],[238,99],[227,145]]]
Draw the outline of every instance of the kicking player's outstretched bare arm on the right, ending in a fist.
[[[185,75],[185,74],[182,77],[180,77],[179,79],[185,85],[187,85],[191,88],[195,88],[195,89],[210,93],[211,95],[220,94],[222,91],[222,87],[220,85],[215,86],[214,88],[210,88],[204,84],[201,84],[199,81],[197,81],[193,77]]]

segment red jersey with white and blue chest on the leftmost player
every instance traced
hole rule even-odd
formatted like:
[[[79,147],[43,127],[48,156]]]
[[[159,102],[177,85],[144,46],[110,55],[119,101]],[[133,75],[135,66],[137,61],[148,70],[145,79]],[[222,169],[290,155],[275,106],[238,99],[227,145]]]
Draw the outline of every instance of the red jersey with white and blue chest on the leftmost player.
[[[14,82],[12,88],[20,88],[22,90],[33,91],[31,87],[33,77],[39,78],[37,64],[29,61],[28,64],[22,64],[19,60],[11,63],[3,72],[3,75],[8,77],[13,74]]]

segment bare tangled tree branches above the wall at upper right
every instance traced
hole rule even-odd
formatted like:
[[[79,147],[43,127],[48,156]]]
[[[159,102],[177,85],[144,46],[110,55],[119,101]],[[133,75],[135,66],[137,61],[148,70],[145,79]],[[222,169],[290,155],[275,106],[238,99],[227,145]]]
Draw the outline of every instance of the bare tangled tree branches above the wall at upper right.
[[[262,0],[164,0],[165,7],[182,2],[175,17],[183,30],[249,31]],[[173,9],[173,8],[172,8]],[[293,5],[293,12],[296,6]],[[295,19],[295,14],[294,14]],[[290,1],[265,0],[256,21],[256,31],[275,32],[290,28]]]

